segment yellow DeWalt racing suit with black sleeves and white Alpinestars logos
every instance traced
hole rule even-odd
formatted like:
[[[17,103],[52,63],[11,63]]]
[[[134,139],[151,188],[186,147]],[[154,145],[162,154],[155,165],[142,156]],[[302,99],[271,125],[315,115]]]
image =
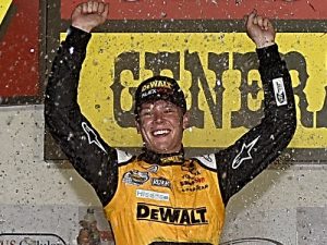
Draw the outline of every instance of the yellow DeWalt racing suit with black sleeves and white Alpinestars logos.
[[[264,117],[230,147],[138,156],[110,147],[81,112],[80,72],[90,34],[71,27],[48,81],[45,119],[76,171],[94,187],[117,245],[219,243],[225,207],[287,147],[295,130],[291,79],[277,45],[257,49]]]

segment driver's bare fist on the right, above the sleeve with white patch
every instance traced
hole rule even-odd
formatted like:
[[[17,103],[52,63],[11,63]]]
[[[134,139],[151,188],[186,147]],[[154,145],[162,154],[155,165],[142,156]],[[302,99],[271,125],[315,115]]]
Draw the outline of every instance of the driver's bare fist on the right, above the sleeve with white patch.
[[[257,15],[256,10],[245,16],[247,36],[255,42],[257,48],[268,47],[275,44],[276,32],[271,22]]]

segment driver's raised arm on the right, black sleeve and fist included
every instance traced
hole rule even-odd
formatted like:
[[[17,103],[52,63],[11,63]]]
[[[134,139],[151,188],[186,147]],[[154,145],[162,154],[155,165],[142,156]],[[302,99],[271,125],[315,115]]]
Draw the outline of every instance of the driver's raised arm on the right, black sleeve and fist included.
[[[268,19],[254,11],[245,21],[256,44],[264,87],[264,118],[237,143],[216,154],[219,184],[225,203],[259,174],[288,146],[296,127],[292,84],[286,62],[275,44]]]

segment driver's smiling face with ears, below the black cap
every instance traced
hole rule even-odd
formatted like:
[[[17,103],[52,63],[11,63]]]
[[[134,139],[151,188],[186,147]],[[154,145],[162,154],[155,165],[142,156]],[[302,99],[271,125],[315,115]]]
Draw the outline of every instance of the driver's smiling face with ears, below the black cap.
[[[177,152],[182,147],[183,131],[189,125],[187,113],[165,101],[145,102],[141,106],[136,121],[137,132],[145,147],[158,154]]]

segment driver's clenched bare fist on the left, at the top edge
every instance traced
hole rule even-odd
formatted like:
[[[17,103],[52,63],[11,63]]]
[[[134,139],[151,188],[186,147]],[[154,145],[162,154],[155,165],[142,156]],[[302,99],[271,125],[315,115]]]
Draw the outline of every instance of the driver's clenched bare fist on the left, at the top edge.
[[[83,2],[72,12],[72,26],[89,33],[94,27],[105,23],[108,12],[108,3],[98,1]]]

